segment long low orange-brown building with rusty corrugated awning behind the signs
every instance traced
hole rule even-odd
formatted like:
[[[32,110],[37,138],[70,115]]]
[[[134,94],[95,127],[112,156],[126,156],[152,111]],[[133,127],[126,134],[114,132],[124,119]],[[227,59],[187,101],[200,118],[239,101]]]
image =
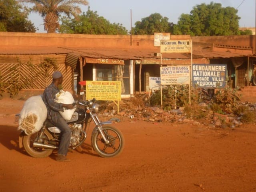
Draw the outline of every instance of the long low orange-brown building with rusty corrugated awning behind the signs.
[[[188,38],[171,36],[171,39]],[[193,64],[227,64],[230,85],[248,86],[254,74],[255,36],[191,39]],[[191,64],[190,54],[161,54],[160,57],[160,47],[154,46],[154,41],[152,35],[0,32],[1,81],[16,80],[23,85],[23,91],[40,92],[52,80],[50,74],[54,68],[45,70],[54,61],[64,74],[66,90],[74,90],[76,71],[78,82],[121,81],[122,97],[130,97],[148,91],[149,77],[160,76],[160,66]]]

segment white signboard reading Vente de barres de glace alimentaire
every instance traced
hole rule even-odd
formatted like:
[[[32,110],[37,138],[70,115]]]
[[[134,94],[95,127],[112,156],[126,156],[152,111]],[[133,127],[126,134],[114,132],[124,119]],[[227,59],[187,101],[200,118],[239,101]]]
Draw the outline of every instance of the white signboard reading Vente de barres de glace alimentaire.
[[[161,85],[190,84],[190,66],[160,67]]]

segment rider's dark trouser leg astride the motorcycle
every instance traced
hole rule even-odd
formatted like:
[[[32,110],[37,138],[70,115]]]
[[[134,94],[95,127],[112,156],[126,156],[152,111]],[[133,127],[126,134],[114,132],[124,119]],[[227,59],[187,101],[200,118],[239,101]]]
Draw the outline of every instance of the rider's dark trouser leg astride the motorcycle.
[[[61,130],[61,139],[58,154],[66,156],[70,144],[71,130],[64,118],[59,118],[54,124]]]

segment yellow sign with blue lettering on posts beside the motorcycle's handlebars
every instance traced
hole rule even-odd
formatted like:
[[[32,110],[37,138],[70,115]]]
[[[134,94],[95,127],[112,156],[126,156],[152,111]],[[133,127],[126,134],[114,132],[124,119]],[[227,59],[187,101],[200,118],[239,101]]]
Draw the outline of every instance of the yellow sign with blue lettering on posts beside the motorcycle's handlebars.
[[[86,81],[86,100],[96,98],[102,101],[121,100],[120,81]]]

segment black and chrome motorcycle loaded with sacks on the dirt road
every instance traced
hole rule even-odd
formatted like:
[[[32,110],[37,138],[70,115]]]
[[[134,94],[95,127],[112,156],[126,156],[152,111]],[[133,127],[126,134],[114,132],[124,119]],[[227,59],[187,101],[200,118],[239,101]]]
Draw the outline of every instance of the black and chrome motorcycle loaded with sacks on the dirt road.
[[[86,140],[86,128],[89,120],[96,125],[92,130],[92,148],[101,157],[109,158],[119,155],[124,148],[124,136],[117,128],[110,126],[112,122],[101,122],[97,116],[99,104],[96,100],[80,101],[76,104],[76,110],[72,118],[68,121],[71,139],[70,149],[76,149]],[[82,106],[82,107],[77,107]],[[61,131],[49,120],[46,120],[42,128],[30,135],[24,131],[19,136],[19,146],[32,157],[45,158],[52,154],[53,150],[58,150]]]

